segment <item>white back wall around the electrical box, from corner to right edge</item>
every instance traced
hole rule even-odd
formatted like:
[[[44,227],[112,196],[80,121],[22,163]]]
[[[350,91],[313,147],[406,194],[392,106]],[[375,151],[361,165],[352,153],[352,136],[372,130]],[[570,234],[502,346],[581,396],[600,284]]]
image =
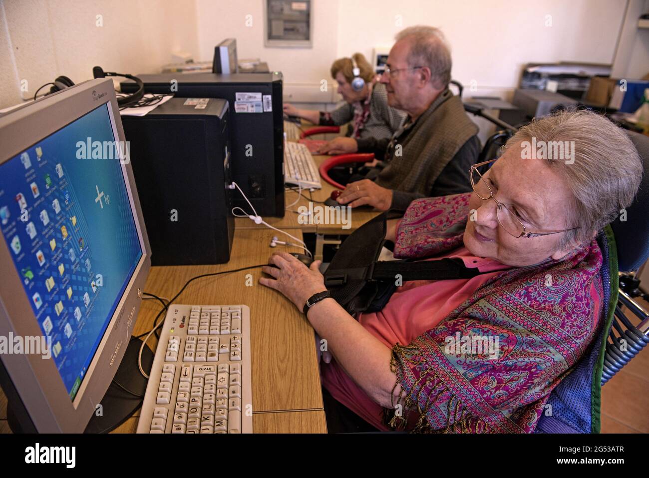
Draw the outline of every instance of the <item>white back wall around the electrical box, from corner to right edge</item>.
[[[634,12],[647,3],[629,1]],[[453,77],[465,85],[476,81],[471,95],[506,98],[529,62],[612,64],[627,5],[627,0],[314,0],[313,49],[286,49],[263,46],[263,0],[196,2],[203,60],[212,58],[217,42],[234,36],[239,57],[267,61],[284,73],[288,88],[332,82],[328,69],[335,58],[355,51],[371,58],[374,46],[391,46],[402,28],[428,24],[447,35]],[[245,26],[248,14],[252,27]],[[623,76],[642,76],[646,71],[637,71],[649,70],[643,65],[646,36],[637,28],[628,31],[628,45],[618,51]]]

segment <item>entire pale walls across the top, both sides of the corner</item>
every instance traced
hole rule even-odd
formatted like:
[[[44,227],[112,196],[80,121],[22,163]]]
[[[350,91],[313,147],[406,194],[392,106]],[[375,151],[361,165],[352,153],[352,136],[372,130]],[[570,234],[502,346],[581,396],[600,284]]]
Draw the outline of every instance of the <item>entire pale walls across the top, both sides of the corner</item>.
[[[508,98],[528,62],[611,64],[618,36],[619,76],[641,77],[649,71],[649,30],[633,27],[632,16],[649,0],[629,1],[624,23],[627,0],[314,0],[313,47],[287,49],[263,46],[263,0],[0,0],[0,107],[20,101],[23,79],[28,98],[57,75],[89,79],[95,64],[154,72],[173,50],[211,60],[214,45],[230,36],[239,58],[261,58],[284,73],[286,92],[312,92],[318,99],[308,101],[319,103],[335,58],[354,51],[370,58],[375,45],[389,47],[397,31],[420,23],[443,29],[453,77],[476,81],[469,95]],[[95,26],[97,14],[103,27]]]

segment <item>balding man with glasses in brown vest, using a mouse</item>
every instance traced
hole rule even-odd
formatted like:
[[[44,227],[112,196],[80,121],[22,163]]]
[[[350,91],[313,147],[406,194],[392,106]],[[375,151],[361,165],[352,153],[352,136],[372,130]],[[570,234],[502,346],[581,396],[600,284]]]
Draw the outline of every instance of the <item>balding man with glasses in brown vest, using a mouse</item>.
[[[381,82],[390,107],[408,118],[391,139],[336,138],[321,152],[371,152],[385,161],[378,175],[353,181],[338,197],[351,207],[405,209],[413,199],[471,190],[467,171],[480,154],[478,127],[448,89],[451,57],[439,29],[410,27],[397,34]],[[374,181],[373,181],[374,180]]]

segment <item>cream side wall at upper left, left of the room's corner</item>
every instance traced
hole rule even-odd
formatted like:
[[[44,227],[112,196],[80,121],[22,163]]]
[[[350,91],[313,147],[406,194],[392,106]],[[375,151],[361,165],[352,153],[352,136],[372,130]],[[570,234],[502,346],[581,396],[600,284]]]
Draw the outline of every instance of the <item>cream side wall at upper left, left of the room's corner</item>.
[[[91,79],[95,65],[155,73],[175,50],[198,53],[193,0],[0,0],[0,108],[58,75]]]

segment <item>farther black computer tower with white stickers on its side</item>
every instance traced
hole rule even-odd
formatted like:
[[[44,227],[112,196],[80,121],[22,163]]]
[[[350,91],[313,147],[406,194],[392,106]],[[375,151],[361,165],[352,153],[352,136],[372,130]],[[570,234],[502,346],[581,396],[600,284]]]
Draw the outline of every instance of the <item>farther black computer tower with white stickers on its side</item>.
[[[284,216],[282,73],[138,75],[147,93],[223,98],[230,105],[232,175],[261,216]],[[125,93],[136,90],[130,80]],[[240,194],[234,204],[252,214]]]

